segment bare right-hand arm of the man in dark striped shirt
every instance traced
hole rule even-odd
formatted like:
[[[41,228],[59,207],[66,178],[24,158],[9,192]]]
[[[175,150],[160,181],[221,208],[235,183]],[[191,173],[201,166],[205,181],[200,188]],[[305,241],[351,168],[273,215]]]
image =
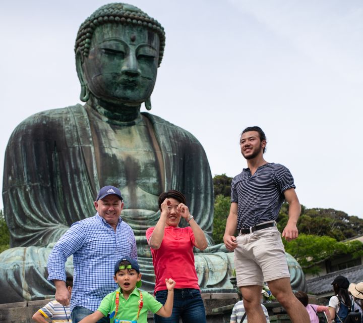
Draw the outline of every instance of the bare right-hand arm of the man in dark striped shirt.
[[[301,213],[301,206],[294,188],[285,190],[284,195],[286,202],[289,204],[289,219],[285,229],[282,231],[282,237],[284,237],[286,241],[291,241],[298,236],[296,225]]]

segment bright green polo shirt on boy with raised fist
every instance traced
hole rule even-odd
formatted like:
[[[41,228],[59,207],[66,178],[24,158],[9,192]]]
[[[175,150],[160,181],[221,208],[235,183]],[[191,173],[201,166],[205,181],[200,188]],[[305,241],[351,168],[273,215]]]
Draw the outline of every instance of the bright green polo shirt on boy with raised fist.
[[[99,305],[98,309],[104,316],[108,313],[112,313],[116,309],[116,291],[119,291],[119,303],[118,303],[118,311],[116,317],[112,317],[110,319],[113,322],[114,318],[124,319],[124,320],[136,320],[137,313],[139,311],[139,300],[140,300],[140,291],[135,288],[132,293],[129,295],[128,299],[125,299],[122,290],[118,288],[113,293],[109,293],[106,295]],[[138,323],[147,323],[147,313],[148,310],[156,313],[163,305],[158,302],[154,296],[150,295],[147,292],[142,292],[143,295],[143,308],[140,311]]]

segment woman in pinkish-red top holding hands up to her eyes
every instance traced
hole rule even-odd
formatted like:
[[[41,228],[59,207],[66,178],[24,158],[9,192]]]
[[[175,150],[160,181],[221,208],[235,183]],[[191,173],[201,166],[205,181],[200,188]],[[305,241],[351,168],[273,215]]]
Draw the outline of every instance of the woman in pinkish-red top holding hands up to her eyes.
[[[155,271],[155,295],[162,304],[166,301],[165,277],[176,281],[174,306],[170,317],[154,316],[154,322],[206,322],[204,303],[200,294],[194,265],[193,247],[204,250],[207,239],[203,230],[189,213],[183,193],[170,190],[159,196],[160,219],[146,231]],[[189,226],[179,227],[181,218]]]

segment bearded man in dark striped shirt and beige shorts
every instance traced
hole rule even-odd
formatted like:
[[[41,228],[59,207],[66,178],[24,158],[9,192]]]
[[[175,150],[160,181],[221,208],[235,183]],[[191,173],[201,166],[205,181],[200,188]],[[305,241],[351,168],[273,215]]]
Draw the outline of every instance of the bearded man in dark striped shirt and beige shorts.
[[[289,170],[264,159],[266,143],[260,127],[248,127],[241,134],[240,149],[248,168],[232,180],[223,240],[228,250],[234,250],[237,286],[250,321],[266,323],[260,305],[265,281],[293,323],[309,323],[308,312],[292,293],[285,250],[275,222],[286,200],[289,220],[282,237],[287,241],[297,238],[301,207]],[[236,230],[238,236],[234,237]]]

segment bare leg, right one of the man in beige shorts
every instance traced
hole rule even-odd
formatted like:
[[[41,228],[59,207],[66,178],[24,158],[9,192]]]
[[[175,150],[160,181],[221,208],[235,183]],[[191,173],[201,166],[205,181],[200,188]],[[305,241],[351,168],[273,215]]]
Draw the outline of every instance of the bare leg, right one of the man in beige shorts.
[[[286,309],[293,323],[310,323],[308,311],[292,293],[290,279],[280,278],[268,282],[268,286],[280,304]]]

